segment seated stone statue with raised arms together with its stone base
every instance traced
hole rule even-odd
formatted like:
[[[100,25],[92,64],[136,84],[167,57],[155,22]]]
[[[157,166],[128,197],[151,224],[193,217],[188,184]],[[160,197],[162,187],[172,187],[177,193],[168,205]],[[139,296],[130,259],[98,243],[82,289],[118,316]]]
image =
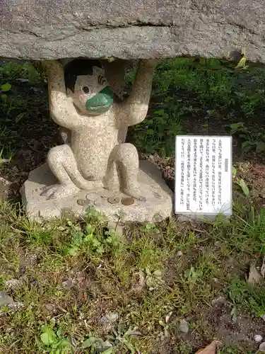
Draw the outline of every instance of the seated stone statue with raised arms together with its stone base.
[[[40,167],[25,182],[21,193],[28,215],[59,216],[66,207],[78,216],[91,204],[110,221],[119,211],[124,221],[170,216],[171,191],[152,169],[139,170],[136,147],[125,142],[127,127],[146,118],[156,60],[140,60],[131,94],[123,101],[113,99],[99,62],[77,59],[65,65],[44,63],[52,119],[68,130],[67,143],[50,149],[49,169]],[[112,80],[117,89],[120,77]]]

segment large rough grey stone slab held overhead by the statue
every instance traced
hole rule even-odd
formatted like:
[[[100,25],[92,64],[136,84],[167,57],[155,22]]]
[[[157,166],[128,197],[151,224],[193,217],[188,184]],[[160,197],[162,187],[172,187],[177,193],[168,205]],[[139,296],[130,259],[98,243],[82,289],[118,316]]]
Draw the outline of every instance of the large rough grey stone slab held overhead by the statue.
[[[264,0],[1,0],[0,57],[265,62]]]

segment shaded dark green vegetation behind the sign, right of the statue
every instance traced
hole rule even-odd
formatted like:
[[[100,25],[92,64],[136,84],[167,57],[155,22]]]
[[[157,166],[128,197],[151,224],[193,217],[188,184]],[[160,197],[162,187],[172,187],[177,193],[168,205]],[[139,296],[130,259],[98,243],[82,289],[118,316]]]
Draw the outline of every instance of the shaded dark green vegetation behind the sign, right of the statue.
[[[132,73],[127,76],[128,84],[133,77]],[[150,114],[132,127],[129,135],[141,152],[172,156],[175,135],[189,133],[187,122],[192,120],[191,124],[196,125],[199,120],[197,129],[202,135],[211,132],[214,125],[227,125],[227,131],[235,137],[244,135],[240,139],[245,142],[245,151],[258,145],[258,152],[264,152],[264,134],[259,131],[264,114],[264,82],[264,69],[249,66],[247,70],[236,70],[235,64],[218,59],[162,62],[155,72]],[[240,130],[241,126],[233,127],[235,122],[245,123]]]

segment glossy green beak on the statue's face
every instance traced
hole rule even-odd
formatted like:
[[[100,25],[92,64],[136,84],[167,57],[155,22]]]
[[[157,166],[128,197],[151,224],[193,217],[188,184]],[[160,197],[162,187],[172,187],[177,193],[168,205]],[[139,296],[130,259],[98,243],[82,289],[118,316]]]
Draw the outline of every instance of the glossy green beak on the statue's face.
[[[113,92],[110,86],[106,86],[99,93],[86,101],[86,109],[90,113],[105,113],[113,103]]]

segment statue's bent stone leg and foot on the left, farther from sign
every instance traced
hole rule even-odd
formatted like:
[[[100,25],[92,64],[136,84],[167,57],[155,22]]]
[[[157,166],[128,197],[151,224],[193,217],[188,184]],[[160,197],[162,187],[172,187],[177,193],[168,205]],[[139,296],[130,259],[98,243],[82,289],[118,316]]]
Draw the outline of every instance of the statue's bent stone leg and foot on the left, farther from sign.
[[[58,183],[51,185],[42,194],[48,198],[64,198],[78,193],[80,189],[91,190],[98,182],[87,181],[78,170],[76,159],[69,145],[53,147],[47,154],[47,163]]]

